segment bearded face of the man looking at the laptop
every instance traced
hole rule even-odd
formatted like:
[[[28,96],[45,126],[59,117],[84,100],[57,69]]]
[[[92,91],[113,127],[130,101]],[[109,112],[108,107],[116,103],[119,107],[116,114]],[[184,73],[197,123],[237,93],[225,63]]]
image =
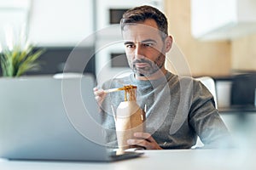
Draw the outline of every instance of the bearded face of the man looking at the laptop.
[[[154,20],[125,26],[123,37],[128,63],[137,76],[150,77],[165,69],[165,42]]]

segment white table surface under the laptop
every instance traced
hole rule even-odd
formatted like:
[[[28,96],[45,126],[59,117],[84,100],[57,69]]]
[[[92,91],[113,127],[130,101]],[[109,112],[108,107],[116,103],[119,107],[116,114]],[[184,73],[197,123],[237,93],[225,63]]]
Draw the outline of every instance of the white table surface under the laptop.
[[[253,150],[144,150],[144,155],[115,162],[76,161],[8,161],[0,160],[1,170],[155,170],[155,169],[196,169],[236,170],[255,169]]]

